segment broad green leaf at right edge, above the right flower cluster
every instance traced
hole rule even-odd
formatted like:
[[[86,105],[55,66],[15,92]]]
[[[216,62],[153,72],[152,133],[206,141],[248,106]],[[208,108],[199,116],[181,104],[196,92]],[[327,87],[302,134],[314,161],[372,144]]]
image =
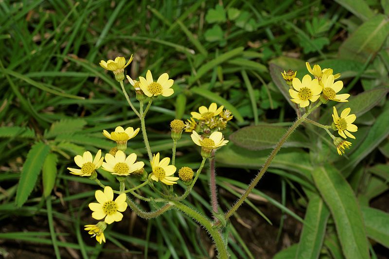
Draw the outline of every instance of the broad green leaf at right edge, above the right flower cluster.
[[[381,49],[388,35],[389,21],[386,16],[378,14],[363,23],[342,43],[339,57],[365,63]]]

